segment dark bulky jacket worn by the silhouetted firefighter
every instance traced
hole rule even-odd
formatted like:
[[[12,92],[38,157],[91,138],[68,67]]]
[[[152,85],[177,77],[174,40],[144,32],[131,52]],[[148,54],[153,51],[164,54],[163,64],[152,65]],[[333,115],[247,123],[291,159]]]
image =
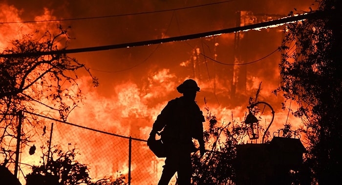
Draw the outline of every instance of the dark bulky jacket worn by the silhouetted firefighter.
[[[202,111],[195,101],[184,97],[171,100],[153,123],[152,132],[161,131],[161,139],[170,149],[193,152],[192,138],[204,147]]]

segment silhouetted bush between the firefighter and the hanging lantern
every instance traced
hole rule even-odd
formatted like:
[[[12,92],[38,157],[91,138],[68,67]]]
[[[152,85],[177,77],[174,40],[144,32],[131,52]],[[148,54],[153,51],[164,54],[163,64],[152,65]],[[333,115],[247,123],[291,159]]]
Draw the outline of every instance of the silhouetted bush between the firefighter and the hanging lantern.
[[[241,144],[247,136],[248,128],[236,121],[219,123],[206,106],[209,129],[204,132],[207,152],[201,158],[192,155],[193,185],[231,185],[234,182],[234,160],[236,144]],[[208,149],[209,148],[209,149]]]

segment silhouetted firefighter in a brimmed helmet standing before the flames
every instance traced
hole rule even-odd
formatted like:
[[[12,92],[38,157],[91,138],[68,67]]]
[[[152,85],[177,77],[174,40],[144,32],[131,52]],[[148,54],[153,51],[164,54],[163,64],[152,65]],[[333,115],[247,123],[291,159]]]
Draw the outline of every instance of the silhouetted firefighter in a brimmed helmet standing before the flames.
[[[171,100],[153,123],[148,145],[153,151],[156,143],[155,135],[160,135],[165,146],[164,153],[158,155],[157,152],[153,152],[158,157],[166,157],[158,185],[168,185],[176,172],[178,185],[191,184],[191,153],[197,151],[192,138],[198,141],[201,155],[205,152],[203,140],[205,119],[195,102],[196,93],[199,90],[194,80],[184,81],[177,87],[177,91],[183,96]]]

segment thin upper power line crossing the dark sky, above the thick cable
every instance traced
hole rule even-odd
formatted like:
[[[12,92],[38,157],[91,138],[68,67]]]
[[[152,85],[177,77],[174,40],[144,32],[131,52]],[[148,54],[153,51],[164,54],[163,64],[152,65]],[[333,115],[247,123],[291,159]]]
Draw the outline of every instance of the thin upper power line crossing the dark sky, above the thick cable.
[[[98,17],[85,17],[85,18],[70,18],[70,19],[55,19],[55,20],[42,20],[42,21],[11,21],[11,22],[0,22],[0,24],[12,24],[12,23],[32,23],[32,22],[52,22],[52,21],[76,21],[76,20],[89,20],[89,19],[103,19],[103,18],[113,18],[113,17],[123,17],[123,16],[132,16],[132,15],[141,15],[141,14],[152,14],[152,13],[159,13],[159,12],[168,12],[168,11],[175,11],[175,10],[183,10],[183,9],[189,9],[189,8],[197,8],[197,7],[203,7],[203,6],[210,6],[215,4],[221,4],[226,2],[231,2],[235,0],[226,0],[226,1],[220,1],[220,2],[213,2],[209,4],[200,4],[195,6],[187,6],[182,8],[174,8],[174,9],[166,9],[166,10],[156,10],[156,11],[150,11],[150,12],[138,12],[138,13],[130,13],[130,14],[118,14],[118,15],[109,15],[109,16],[98,16]]]

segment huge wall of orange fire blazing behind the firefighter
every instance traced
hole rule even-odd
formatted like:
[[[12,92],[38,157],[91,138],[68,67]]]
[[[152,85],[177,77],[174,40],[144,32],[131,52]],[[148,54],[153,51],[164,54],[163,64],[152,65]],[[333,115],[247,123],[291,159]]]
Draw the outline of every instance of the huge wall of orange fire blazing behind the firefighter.
[[[31,33],[35,30],[43,33],[46,30],[55,29],[56,24],[63,23],[58,21],[22,23],[24,21],[21,18],[23,11],[24,9],[19,10],[14,5],[0,3],[1,51],[9,46],[8,41],[17,39],[22,34]],[[182,13],[178,16],[181,16]],[[34,20],[57,19],[53,14],[53,10],[43,8],[43,13],[37,13]],[[130,16],[129,20],[132,19]],[[17,21],[19,23],[2,23]],[[171,22],[176,24],[175,20]],[[177,24],[182,24],[182,22],[184,21],[177,22]],[[218,21],[218,23],[221,22]],[[82,28],[77,21],[71,24],[76,27],[72,34],[76,38],[78,35],[84,38],[86,28]],[[224,25],[227,24],[224,23]],[[123,25],[127,27],[122,28],[126,31],[132,26],[127,22],[123,23]],[[121,27],[121,25],[117,26]],[[276,97],[271,93],[272,90],[278,87],[280,82],[278,71],[280,54],[273,54],[262,61],[249,65],[233,65],[234,63],[242,64],[255,61],[276,49],[282,36],[279,29],[270,28],[241,33],[241,41],[239,42],[234,40],[236,37],[232,33],[187,42],[166,43],[157,48],[155,46],[141,46],[115,51],[71,54],[79,62],[85,63],[91,68],[93,75],[99,77],[100,86],[98,88],[92,87],[90,79],[87,76],[82,76],[81,71],[81,79],[78,83],[85,99],[71,112],[67,122],[121,136],[146,140],[151,125],[162,108],[169,100],[181,96],[176,92],[175,87],[185,79],[192,78],[201,87],[201,92],[198,93],[196,98],[200,108],[206,114],[205,107],[208,106],[220,123],[243,122],[248,111],[246,108],[248,99],[249,97],[255,98],[258,85],[262,82],[258,101],[271,104],[276,112],[273,124],[270,127],[271,135],[279,128],[282,128],[285,123],[291,123],[293,129],[296,129],[301,126],[300,120],[288,114],[287,111],[283,111],[281,109],[282,97]],[[119,41],[123,39],[120,35],[115,34],[115,30],[112,31],[111,35],[107,35],[107,37],[111,38],[111,41],[113,38],[120,38]],[[167,32],[165,29],[163,31]],[[117,33],[122,34],[122,30]],[[139,33],[133,33],[135,34],[134,38],[138,38]],[[146,33],[142,34],[146,35]],[[163,34],[172,36],[174,33],[162,33],[160,35]],[[100,38],[104,40],[102,36]],[[79,40],[71,41],[76,42],[73,46],[107,44],[105,41],[99,42],[96,38],[87,38],[79,43],[77,41]],[[238,50],[235,48],[236,44],[239,45]],[[201,54],[214,56],[213,58],[217,61],[232,65],[222,65],[210,61]],[[137,63],[141,64],[132,67]],[[121,70],[126,68],[127,70]],[[121,72],[115,72],[117,70]],[[206,104],[204,98],[207,101]],[[296,105],[287,104],[286,106],[295,109]],[[263,122],[261,124],[266,127],[272,117],[270,109],[265,108],[262,116]],[[50,121],[47,121],[47,123],[50,123]],[[65,148],[70,147],[70,144],[75,144],[81,154],[78,160],[90,166],[90,176],[99,179],[104,176],[113,176],[118,171],[125,175],[128,174],[127,139],[116,141],[120,139],[82,129],[75,129],[75,131],[73,126],[54,123],[53,128],[52,125],[48,124],[47,129],[48,131],[53,129],[52,144],[60,144]],[[207,123],[205,123],[206,126]],[[37,148],[46,144],[45,139],[48,139],[49,136],[47,133],[44,135],[46,138],[44,138],[36,133],[35,145],[38,146]],[[246,142],[248,142],[248,139]],[[260,143],[260,140],[257,142]],[[137,143],[135,142],[135,144]],[[112,152],[102,153],[108,148],[111,148]],[[141,152],[149,153],[144,142],[140,142],[139,148],[144,150]],[[37,152],[34,156],[28,156],[26,150],[28,150],[28,146],[24,146],[22,149],[21,169],[23,175],[30,172],[30,167],[23,164],[39,165],[41,160],[40,152]],[[150,160],[151,154],[146,155],[146,159]],[[143,161],[144,159],[140,159],[140,162],[135,161],[131,166],[131,170],[141,170],[137,166],[145,165],[146,173],[157,180],[162,170],[163,160]],[[110,164],[109,168],[108,163]],[[102,166],[107,166],[106,172],[104,172],[106,169]],[[22,184],[25,184],[22,175],[20,177]]]

